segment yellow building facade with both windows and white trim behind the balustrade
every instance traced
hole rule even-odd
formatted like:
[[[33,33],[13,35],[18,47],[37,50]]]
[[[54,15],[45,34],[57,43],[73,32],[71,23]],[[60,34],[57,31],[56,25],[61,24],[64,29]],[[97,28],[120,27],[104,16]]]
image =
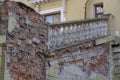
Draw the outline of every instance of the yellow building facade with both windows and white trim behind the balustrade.
[[[47,22],[63,22],[112,14],[115,21],[115,34],[120,34],[119,0],[14,0],[34,8],[45,16]]]

